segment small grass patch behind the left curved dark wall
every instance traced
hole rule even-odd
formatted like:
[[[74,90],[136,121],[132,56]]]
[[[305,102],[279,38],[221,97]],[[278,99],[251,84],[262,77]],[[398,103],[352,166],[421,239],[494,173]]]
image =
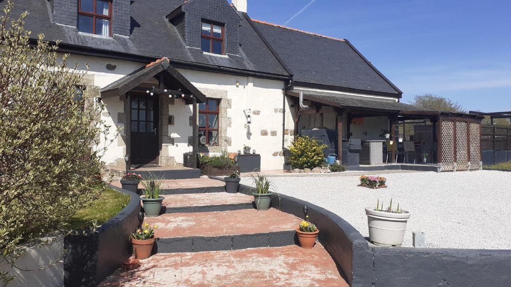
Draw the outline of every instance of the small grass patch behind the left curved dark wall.
[[[69,220],[69,224],[73,229],[89,228],[94,221],[101,225],[119,213],[129,200],[129,195],[106,188],[97,200],[88,207],[78,210],[75,216]]]

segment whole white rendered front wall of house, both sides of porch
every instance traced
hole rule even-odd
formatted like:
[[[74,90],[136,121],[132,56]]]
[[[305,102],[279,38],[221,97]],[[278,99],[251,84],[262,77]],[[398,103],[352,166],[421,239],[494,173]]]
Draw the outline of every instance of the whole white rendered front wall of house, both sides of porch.
[[[79,63],[82,68],[85,67],[85,63],[89,64],[88,74],[94,75],[94,85],[98,88],[119,80],[144,65],[142,63],[79,55],[69,57],[68,63],[70,65]],[[115,65],[116,68],[113,71],[108,70],[106,68],[108,63]],[[284,157],[282,156],[284,112],[282,89],[284,88],[284,81],[206,73],[187,69],[179,69],[179,71],[197,88],[205,89],[207,92],[211,90],[223,91],[226,93],[226,99],[230,100],[230,108],[227,109],[226,115],[224,115],[225,118],[230,118],[231,121],[230,127],[226,127],[225,130],[225,136],[230,138],[230,146],[222,148],[229,152],[237,152],[243,149],[243,145],[250,146],[258,154],[261,154],[261,168],[263,170],[282,169],[284,164]],[[237,82],[239,86],[236,85]],[[105,121],[106,125],[112,127],[106,142],[110,140],[113,140],[113,142],[102,158],[109,164],[124,158],[125,154],[125,143],[121,137],[125,134],[124,130],[118,138],[114,138],[115,128],[124,128],[124,124],[118,123],[118,114],[124,112],[124,102],[119,97],[110,97],[103,99],[103,104],[106,105],[106,110],[103,112],[101,119]],[[247,134],[246,117],[243,111],[245,109],[251,109],[252,111],[252,123],[248,125],[251,134]],[[285,110],[288,132],[285,137],[285,145],[289,145],[293,138],[292,134],[289,135],[289,131],[292,133],[294,124],[287,100]],[[253,111],[259,111],[259,114],[254,114]],[[174,104],[169,105],[169,115],[174,116],[174,125],[169,126],[169,136],[173,139],[173,144],[164,143],[160,154],[173,156],[177,163],[182,163],[183,153],[192,150],[191,145],[189,145],[189,137],[192,136],[192,127],[189,125],[192,106],[184,105],[181,100],[176,99]],[[102,138],[101,146],[104,143],[105,140]],[[220,150],[220,148],[212,150]]]

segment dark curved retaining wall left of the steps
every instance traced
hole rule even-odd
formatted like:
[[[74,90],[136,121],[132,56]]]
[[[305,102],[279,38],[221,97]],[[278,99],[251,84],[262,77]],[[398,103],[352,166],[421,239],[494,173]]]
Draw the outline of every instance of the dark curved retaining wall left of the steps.
[[[131,196],[129,203],[97,229],[94,234],[68,235],[64,238],[64,285],[96,286],[121,267],[132,254],[129,235],[141,221],[140,197],[128,190],[110,188]]]

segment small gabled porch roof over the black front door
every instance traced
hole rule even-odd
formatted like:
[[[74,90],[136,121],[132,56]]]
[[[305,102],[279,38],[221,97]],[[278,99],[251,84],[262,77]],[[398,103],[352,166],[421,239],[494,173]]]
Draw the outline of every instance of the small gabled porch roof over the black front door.
[[[158,74],[161,74],[161,78],[156,77]],[[161,79],[162,84],[165,84],[169,89],[181,89],[184,94],[193,94],[197,98],[198,103],[204,103],[206,100],[206,96],[190,83],[190,81],[184,78],[184,76],[170,64],[169,59],[165,57],[147,64],[121,79],[108,84],[101,89],[101,96],[112,97],[125,94],[153,77],[158,80]]]

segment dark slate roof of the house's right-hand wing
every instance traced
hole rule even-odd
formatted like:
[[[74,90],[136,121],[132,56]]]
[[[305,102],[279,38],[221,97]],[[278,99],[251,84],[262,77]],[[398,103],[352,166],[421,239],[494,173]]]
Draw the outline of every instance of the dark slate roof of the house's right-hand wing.
[[[400,98],[401,90],[385,78],[351,43],[315,33],[252,20],[282,59],[295,86],[300,83],[377,91]]]

